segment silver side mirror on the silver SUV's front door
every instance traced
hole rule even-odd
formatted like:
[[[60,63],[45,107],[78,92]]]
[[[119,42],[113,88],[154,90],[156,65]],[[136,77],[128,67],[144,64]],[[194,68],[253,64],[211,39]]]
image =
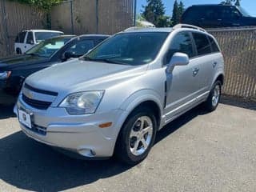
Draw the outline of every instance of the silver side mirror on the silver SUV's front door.
[[[175,53],[167,64],[166,72],[171,73],[174,70],[174,66],[186,66],[190,62],[190,58],[187,54]]]

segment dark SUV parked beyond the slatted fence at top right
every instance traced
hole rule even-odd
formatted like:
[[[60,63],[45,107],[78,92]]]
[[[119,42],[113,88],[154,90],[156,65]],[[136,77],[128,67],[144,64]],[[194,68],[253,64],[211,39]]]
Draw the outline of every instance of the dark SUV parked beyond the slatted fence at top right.
[[[181,22],[204,28],[256,26],[256,18],[250,17],[242,7],[226,5],[190,6]]]

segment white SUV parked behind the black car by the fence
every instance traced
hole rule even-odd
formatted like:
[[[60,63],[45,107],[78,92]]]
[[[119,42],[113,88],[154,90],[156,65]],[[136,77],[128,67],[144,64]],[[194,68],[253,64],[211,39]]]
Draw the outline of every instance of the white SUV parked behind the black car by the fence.
[[[33,46],[39,42],[48,38],[58,37],[64,34],[58,30],[23,30],[20,32],[14,43],[14,49],[16,54],[23,54],[27,50],[30,50]]]

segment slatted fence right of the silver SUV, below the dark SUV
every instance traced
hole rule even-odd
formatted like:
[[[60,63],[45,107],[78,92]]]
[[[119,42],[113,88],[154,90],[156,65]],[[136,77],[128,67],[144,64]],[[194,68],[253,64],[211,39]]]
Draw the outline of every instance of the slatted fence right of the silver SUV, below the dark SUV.
[[[256,28],[210,30],[225,58],[224,94],[256,100]]]

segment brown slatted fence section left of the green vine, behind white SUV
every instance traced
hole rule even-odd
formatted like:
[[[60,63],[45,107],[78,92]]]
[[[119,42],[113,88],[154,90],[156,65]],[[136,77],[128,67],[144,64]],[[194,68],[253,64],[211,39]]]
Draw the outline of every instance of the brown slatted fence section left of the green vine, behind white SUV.
[[[46,14],[34,7],[0,0],[0,57],[14,54],[14,41],[21,30],[43,29]]]

